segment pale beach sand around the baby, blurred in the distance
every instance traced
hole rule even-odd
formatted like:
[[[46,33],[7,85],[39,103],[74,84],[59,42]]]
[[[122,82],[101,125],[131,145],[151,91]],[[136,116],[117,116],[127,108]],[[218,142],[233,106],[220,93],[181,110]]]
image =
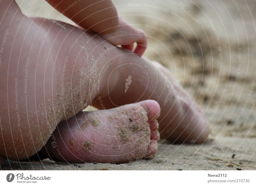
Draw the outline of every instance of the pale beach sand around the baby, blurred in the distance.
[[[44,0],[38,0],[30,4],[31,6],[28,5],[28,1],[16,1],[23,13],[28,16],[56,19],[60,14]],[[195,102],[201,103],[201,110],[209,123],[208,127],[212,130],[208,142],[196,145],[165,142],[159,146],[154,159],[137,160],[127,164],[71,164],[48,159],[31,163],[11,161],[11,166],[2,168],[255,170],[256,2],[114,2],[119,15],[147,33],[148,49],[145,56],[161,62],[170,69],[182,86],[195,98]],[[72,24],[64,16],[59,20]]]

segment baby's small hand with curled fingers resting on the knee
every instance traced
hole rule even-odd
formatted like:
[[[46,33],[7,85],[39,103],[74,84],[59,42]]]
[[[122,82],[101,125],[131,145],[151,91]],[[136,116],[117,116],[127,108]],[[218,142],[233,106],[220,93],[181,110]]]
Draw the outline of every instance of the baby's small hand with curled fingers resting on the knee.
[[[147,35],[141,30],[132,27],[125,19],[119,17],[119,26],[113,32],[100,34],[104,39],[113,45],[122,45],[123,48],[133,51],[134,43],[137,46],[135,54],[143,55],[147,48]]]

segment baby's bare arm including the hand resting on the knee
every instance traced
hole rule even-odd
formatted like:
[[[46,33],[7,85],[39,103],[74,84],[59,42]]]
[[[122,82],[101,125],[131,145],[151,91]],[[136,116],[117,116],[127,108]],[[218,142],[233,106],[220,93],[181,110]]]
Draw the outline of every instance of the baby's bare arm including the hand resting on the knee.
[[[139,55],[147,48],[146,34],[118,17],[112,0],[46,1],[80,27],[99,33],[114,45],[123,45],[133,51],[133,43],[136,42],[134,53]]]

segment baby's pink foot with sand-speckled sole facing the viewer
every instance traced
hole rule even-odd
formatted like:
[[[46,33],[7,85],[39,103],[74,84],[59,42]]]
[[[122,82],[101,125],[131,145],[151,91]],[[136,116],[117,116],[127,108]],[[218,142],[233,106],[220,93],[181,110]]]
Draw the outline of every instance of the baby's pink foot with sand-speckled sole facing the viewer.
[[[157,151],[160,106],[147,100],[109,110],[79,112],[58,125],[45,145],[52,159],[121,163]]]

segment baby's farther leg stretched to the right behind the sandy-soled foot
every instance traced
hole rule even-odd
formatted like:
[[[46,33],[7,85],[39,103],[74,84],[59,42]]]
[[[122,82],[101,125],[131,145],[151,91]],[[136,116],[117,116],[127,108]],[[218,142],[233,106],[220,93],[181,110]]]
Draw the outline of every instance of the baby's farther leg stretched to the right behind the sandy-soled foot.
[[[109,77],[110,82],[116,78],[118,82],[115,89],[102,99],[106,108],[153,99],[161,107],[158,122],[162,138],[188,143],[202,143],[207,139],[209,130],[202,113],[170,71],[157,62],[124,51],[119,55],[122,62]],[[132,81],[125,92],[129,76]],[[93,106],[100,109],[101,105],[99,100],[93,101]]]

